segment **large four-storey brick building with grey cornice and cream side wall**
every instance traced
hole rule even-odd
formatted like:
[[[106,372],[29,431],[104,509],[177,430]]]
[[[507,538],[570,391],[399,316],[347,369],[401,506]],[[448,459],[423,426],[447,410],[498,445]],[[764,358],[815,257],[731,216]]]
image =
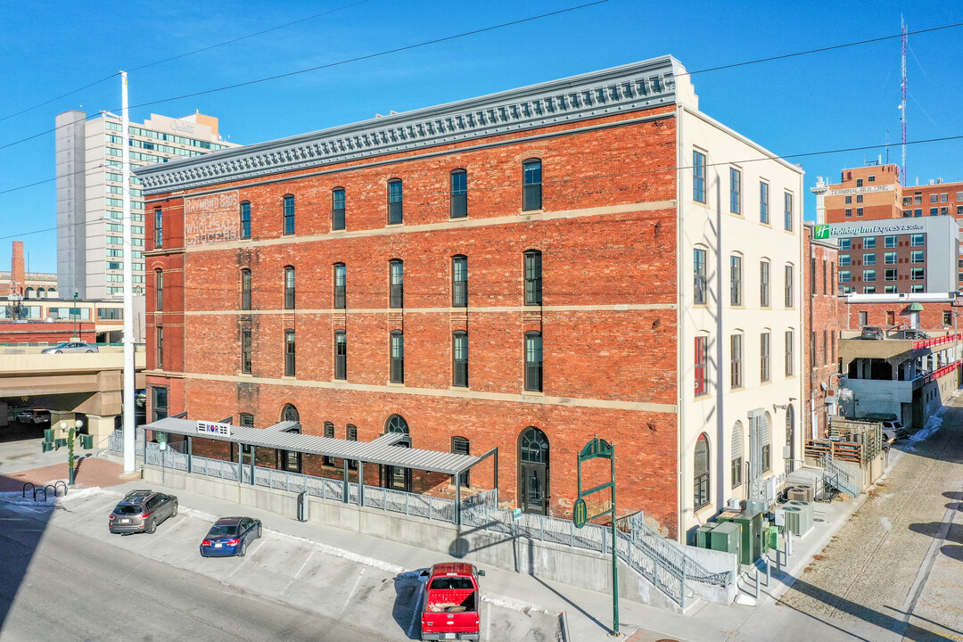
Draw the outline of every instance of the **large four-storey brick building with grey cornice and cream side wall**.
[[[498,448],[500,499],[562,516],[597,434],[675,536],[799,456],[802,171],[670,57],[137,173],[148,419]]]

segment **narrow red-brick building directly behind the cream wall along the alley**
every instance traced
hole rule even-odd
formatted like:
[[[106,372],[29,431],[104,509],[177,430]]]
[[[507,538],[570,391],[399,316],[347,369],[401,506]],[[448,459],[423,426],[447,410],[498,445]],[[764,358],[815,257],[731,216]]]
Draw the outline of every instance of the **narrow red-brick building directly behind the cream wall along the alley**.
[[[805,223],[806,254],[806,403],[805,439],[826,436],[826,390],[836,385],[839,374],[840,330],[846,327],[846,302],[836,285],[839,245],[835,240],[813,238],[813,224]],[[823,385],[825,389],[823,389]]]

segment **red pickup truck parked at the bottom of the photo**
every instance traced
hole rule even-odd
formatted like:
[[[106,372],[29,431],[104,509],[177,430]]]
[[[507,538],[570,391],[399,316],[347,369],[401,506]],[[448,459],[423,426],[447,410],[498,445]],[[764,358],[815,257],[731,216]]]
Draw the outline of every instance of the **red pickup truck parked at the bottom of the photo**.
[[[477,640],[481,631],[479,571],[472,564],[435,564],[422,607],[423,640]]]

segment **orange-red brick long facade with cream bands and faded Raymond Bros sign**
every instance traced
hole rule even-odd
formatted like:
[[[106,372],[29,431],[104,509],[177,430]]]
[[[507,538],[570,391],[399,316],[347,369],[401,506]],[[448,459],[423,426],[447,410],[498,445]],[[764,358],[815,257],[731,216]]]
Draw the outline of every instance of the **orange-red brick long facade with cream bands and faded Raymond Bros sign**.
[[[664,109],[641,116],[661,115]],[[297,172],[225,186],[251,204],[251,240],[230,247],[185,251],[181,213],[191,193],[151,199],[148,218],[161,208],[164,239],[146,258],[148,385],[169,386],[169,414],[187,409],[192,417],[239,422],[249,413],[255,425],[267,426],[290,403],[305,432],[323,434],[330,422],[344,438],[353,424],[361,441],[401,415],[414,448],[450,451],[455,436],[469,440],[472,454],[499,448],[500,496],[512,505],[519,436],[535,426],[550,445],[548,509],[559,515],[576,495],[576,454],[599,433],[624,462],[616,480],[622,511],[645,510],[671,528],[675,415],[634,406],[670,406],[677,394],[675,211],[647,205],[674,198],[675,129],[671,117],[638,116],[545,128],[538,133],[554,136],[536,142],[506,135],[486,148],[455,143],[431,154],[386,155],[377,165],[329,166],[322,176]],[[542,164],[543,209],[535,214],[520,211],[521,165],[529,158]],[[448,183],[456,168],[469,177],[467,219],[450,218]],[[392,178],[403,180],[401,228],[385,227]],[[347,194],[344,232],[331,230],[334,188]],[[282,235],[288,193],[296,203],[292,237]],[[147,229],[152,248],[153,226]],[[524,305],[523,254],[531,249],[542,253],[541,306]],[[468,258],[465,308],[452,307],[455,255]],[[403,261],[404,307],[397,310],[388,307],[392,259]],[[332,309],[335,263],[347,267],[345,310]],[[295,310],[284,309],[287,266],[296,270]],[[153,270],[164,272],[163,313],[156,312]],[[240,270],[251,273],[251,314],[239,310]],[[186,378],[157,369],[158,327],[163,372]],[[249,374],[241,372],[242,329],[252,338]],[[289,329],[297,342],[293,379],[284,376]],[[344,382],[333,378],[336,330],[348,337]],[[403,385],[388,381],[392,330],[403,332]],[[452,385],[455,330],[469,336],[467,389]],[[542,333],[541,394],[524,391],[529,331]],[[275,453],[261,453],[258,462],[280,463]],[[340,476],[340,462],[334,464],[305,457],[301,470]],[[472,472],[473,485],[490,487],[492,473],[485,462]],[[383,482],[378,475],[366,470],[369,482]],[[413,475],[415,491],[445,495],[451,488],[444,475]]]

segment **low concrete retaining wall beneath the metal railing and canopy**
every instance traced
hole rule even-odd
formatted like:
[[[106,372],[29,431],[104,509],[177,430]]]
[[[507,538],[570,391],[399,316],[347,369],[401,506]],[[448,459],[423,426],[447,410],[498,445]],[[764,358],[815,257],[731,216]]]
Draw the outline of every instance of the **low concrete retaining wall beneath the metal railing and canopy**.
[[[217,477],[188,475],[169,469],[162,472],[161,469],[152,466],[144,467],[143,478],[169,488],[184,489],[198,495],[256,506],[290,519],[297,519],[296,493],[239,484],[236,481],[222,480]],[[612,557],[599,552],[573,549],[524,537],[516,541],[509,535],[488,530],[455,526],[367,506],[359,507],[353,503],[325,501],[315,497],[308,497],[308,519],[318,524],[336,526],[467,561],[527,573],[537,578],[560,581],[601,593],[612,592]],[[687,552],[707,570],[712,572],[731,570],[733,578],[736,577],[735,555],[693,547],[687,547]],[[618,565],[621,597],[676,612],[682,611],[678,604],[672,602],[648,579],[630,569],[622,560],[618,560]],[[703,586],[694,582],[690,588],[696,596],[712,602],[732,603],[735,599],[735,582],[728,589]],[[691,600],[691,602],[697,601]],[[687,609],[688,606],[687,604]]]

